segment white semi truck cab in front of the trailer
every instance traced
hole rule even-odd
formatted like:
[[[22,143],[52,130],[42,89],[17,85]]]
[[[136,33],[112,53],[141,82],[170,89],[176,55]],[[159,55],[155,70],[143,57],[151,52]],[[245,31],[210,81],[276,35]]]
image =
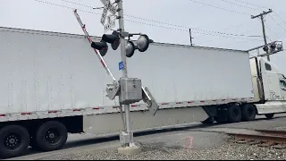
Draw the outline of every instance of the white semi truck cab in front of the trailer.
[[[286,78],[279,68],[262,57],[251,58],[250,68],[257,114],[286,112]]]

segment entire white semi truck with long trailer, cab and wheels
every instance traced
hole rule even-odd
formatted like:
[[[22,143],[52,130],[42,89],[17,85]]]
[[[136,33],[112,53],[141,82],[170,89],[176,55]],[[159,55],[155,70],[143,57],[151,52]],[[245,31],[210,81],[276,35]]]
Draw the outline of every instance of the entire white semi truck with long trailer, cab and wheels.
[[[119,52],[105,55],[117,79]],[[21,156],[29,146],[62,148],[68,133],[122,131],[118,101],[105,93],[112,80],[85,36],[0,28],[0,54],[2,157]],[[249,64],[246,51],[153,43],[128,58],[128,69],[159,104],[156,115],[142,102],[131,105],[135,131],[286,112],[285,77],[263,58]]]

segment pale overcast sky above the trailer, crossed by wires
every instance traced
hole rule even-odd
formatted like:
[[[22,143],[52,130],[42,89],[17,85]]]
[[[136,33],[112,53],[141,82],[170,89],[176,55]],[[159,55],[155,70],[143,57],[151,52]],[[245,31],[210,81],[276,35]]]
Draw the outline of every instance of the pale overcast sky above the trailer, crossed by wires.
[[[100,24],[102,10],[90,7],[103,6],[100,0],[38,1],[0,0],[0,26],[82,34],[71,10],[78,8],[83,10],[78,13],[89,34],[104,34]],[[267,41],[286,39],[285,6],[285,0],[123,1],[127,31],[146,33],[157,42],[189,45],[191,28],[193,43],[197,46],[242,50],[264,44],[261,21],[251,19],[251,15],[267,11],[267,8],[273,9],[273,13],[265,16]],[[271,58],[286,73],[286,53]]]

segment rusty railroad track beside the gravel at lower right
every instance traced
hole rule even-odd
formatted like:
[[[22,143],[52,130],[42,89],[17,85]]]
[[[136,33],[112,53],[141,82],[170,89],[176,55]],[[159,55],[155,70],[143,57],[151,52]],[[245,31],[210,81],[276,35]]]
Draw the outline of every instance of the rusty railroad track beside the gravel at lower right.
[[[233,142],[259,147],[286,148],[286,131],[256,130],[255,134],[227,133]]]

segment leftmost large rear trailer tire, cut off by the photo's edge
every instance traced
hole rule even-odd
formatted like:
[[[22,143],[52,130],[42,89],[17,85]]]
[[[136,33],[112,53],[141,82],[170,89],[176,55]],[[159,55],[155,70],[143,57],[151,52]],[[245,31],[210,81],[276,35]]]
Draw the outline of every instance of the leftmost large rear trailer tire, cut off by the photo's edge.
[[[0,130],[0,155],[19,157],[29,148],[29,132],[19,125],[8,125]]]

